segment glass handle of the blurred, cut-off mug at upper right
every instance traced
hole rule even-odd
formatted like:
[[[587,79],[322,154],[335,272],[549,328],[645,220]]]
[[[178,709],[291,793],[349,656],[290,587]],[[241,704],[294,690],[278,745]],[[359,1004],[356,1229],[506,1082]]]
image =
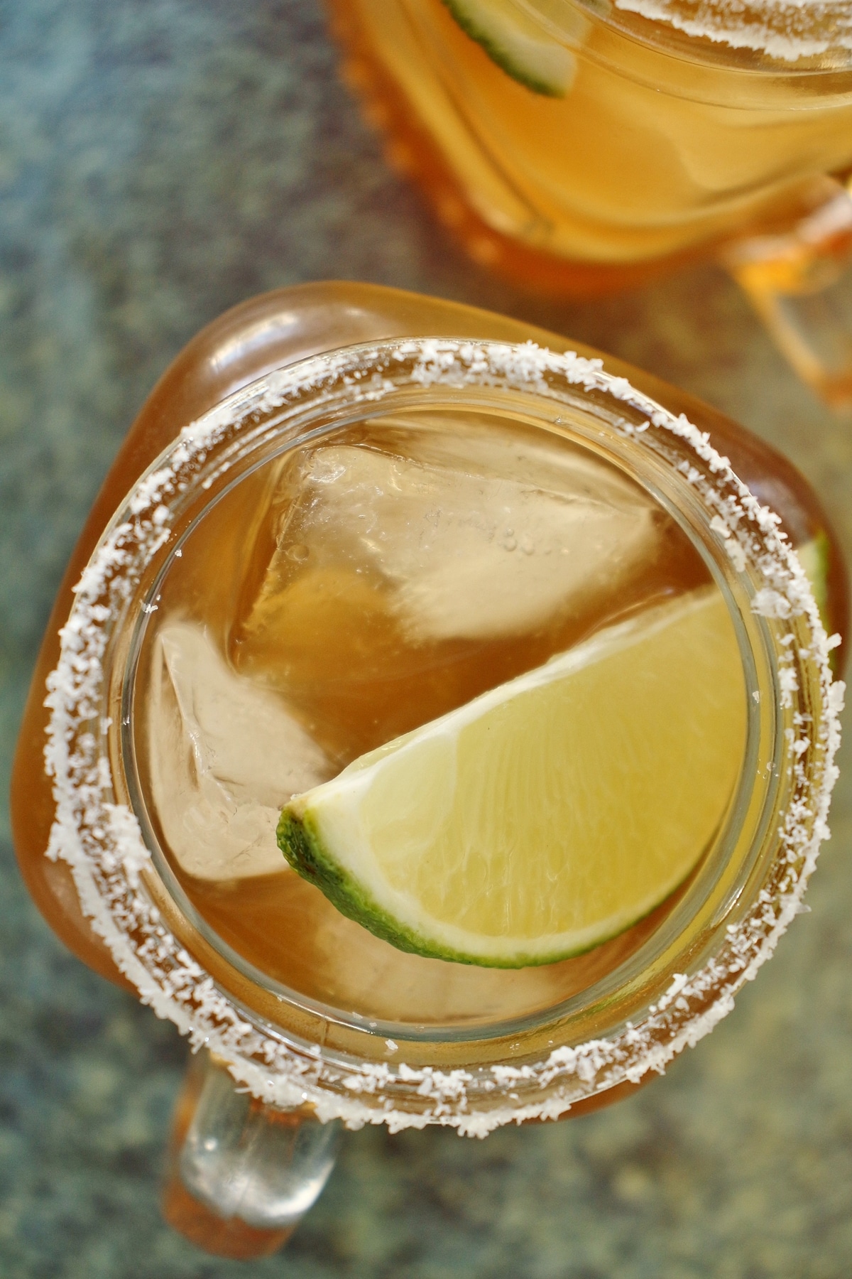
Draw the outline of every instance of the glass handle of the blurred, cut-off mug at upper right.
[[[722,263],[796,373],[832,408],[852,411],[852,178],[818,179],[810,208],[777,234],[746,234]]]

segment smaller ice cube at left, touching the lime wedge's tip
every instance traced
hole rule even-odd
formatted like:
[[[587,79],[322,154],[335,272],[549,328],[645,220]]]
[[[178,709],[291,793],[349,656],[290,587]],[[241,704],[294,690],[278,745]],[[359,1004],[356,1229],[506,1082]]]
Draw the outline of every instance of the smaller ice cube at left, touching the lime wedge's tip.
[[[153,808],[180,867],[206,880],[286,871],[280,811],[336,770],[282,700],[230,670],[203,625],[171,620],[146,705]]]

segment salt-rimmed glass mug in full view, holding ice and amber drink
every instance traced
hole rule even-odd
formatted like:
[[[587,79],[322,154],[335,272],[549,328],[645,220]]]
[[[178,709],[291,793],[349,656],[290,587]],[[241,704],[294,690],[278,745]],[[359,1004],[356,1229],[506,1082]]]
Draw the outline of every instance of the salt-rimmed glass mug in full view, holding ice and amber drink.
[[[400,714],[416,726],[505,679],[506,663],[529,669],[589,629],[577,605],[552,633],[519,623],[508,648],[453,640],[427,652],[400,650],[396,632],[388,643],[374,600],[359,613],[361,586],[351,599],[326,586],[300,613],[328,547],[344,559],[321,565],[326,583],[353,564],[346,582],[364,582],[353,559],[361,508],[347,504],[360,471],[333,503],[337,478],[365,455],[368,480],[376,467],[393,477],[382,509],[401,541],[383,551],[386,567],[409,536],[416,485],[406,485],[427,466],[474,532],[471,483],[503,505],[522,490],[539,514],[561,486],[581,513],[639,513],[655,547],[643,551],[643,591],[668,599],[697,583],[719,604],[741,735],[718,821],[663,904],[585,954],[507,971],[396,950],[257,834],[304,788],[328,732],[340,766],[346,751],[405,730]],[[287,542],[296,508],[300,540]],[[284,518],[271,542],[270,510]],[[612,528],[607,563],[621,563],[623,527]],[[368,564],[378,536],[359,542]],[[520,585],[551,581],[529,567],[545,559],[538,536],[525,549],[521,524],[503,531],[499,561],[485,538],[488,608],[510,622]],[[593,554],[588,538],[577,545]],[[455,573],[459,556],[436,563]],[[281,720],[266,650],[252,647],[275,564],[298,588],[286,596],[287,679],[303,680],[300,726]],[[631,604],[635,567],[616,583],[612,616],[644,608],[645,596]],[[450,583],[451,625],[455,611],[475,619],[475,592]],[[612,620],[589,599],[593,629]],[[263,1255],[321,1192],[341,1120],[484,1136],[576,1115],[641,1087],[711,1030],[797,913],[826,833],[843,689],[832,665],[846,622],[843,564],[801,476],[646,373],[513,320],[358,284],[281,289],[204,329],[155,388],[95,503],[47,628],[13,783],[20,868],[52,929],[198,1051],[175,1114],[167,1219],[212,1252]],[[276,774],[294,733],[300,744]]]

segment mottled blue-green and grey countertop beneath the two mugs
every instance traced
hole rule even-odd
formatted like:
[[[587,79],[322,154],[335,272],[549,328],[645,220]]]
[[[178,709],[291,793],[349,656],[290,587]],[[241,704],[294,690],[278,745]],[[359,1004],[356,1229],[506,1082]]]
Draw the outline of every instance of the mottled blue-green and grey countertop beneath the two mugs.
[[[0,0],[4,779],[65,559],[155,379],[241,298],[335,276],[513,312],[681,384],[780,445],[852,550],[852,426],[796,385],[733,286],[699,267],[554,306],[489,280],[386,168],[313,0]],[[0,1274],[846,1279],[851,779],[812,913],[664,1081],[485,1142],[349,1134],[289,1250],[249,1264],[161,1221],[185,1046],[52,939],[15,871],[4,780]]]

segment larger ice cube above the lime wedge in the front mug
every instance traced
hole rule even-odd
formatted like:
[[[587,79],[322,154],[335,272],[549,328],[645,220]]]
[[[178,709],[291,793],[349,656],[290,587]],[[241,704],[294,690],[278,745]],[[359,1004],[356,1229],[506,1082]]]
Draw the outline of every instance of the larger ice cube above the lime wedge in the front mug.
[[[411,643],[436,643],[524,634],[566,609],[593,609],[653,559],[660,509],[594,455],[519,450],[492,435],[488,472],[469,436],[424,439],[416,459],[321,446],[285,475],[240,661],[280,625],[284,593],[305,574],[356,574]]]

